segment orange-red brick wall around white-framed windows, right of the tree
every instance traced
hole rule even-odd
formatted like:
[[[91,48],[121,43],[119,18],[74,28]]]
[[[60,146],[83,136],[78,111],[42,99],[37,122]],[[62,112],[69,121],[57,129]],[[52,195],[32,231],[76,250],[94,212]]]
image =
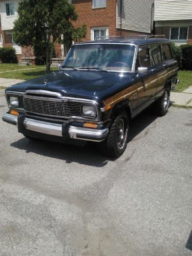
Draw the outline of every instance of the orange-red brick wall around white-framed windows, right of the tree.
[[[107,0],[107,7],[92,9],[92,0],[73,0],[75,11],[78,14],[75,27],[87,26],[87,35],[83,41],[91,40],[92,27],[109,27],[109,35],[116,35],[116,0]]]

